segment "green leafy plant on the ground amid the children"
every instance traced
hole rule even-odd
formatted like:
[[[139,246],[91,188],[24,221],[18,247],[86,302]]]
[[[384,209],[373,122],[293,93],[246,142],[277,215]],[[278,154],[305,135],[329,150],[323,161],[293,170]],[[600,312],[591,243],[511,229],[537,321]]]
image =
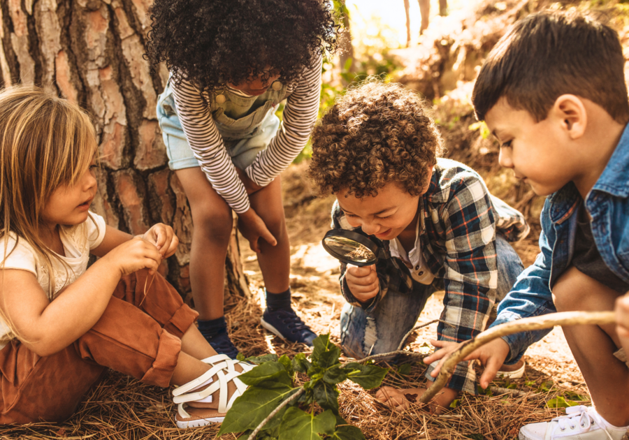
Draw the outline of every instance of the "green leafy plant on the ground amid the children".
[[[337,384],[349,380],[370,390],[382,383],[389,369],[359,362],[342,365],[340,349],[329,335],[317,337],[314,344],[310,358],[303,353],[292,360],[287,355],[239,355],[239,360],[258,367],[238,376],[249,388],[231,406],[219,435],[243,432],[239,440],[365,439],[359,428],[339,416]],[[298,373],[310,380],[296,387]],[[316,416],[315,404],[324,410]]]

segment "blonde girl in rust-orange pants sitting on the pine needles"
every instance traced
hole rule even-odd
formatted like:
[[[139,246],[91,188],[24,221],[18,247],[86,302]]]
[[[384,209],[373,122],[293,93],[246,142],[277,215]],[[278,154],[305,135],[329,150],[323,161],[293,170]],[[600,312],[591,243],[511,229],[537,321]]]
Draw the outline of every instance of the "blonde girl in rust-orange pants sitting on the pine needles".
[[[132,237],[89,212],[97,151],[77,105],[0,91],[0,423],[68,418],[106,368],[179,385],[178,427],[222,421],[250,367],[217,355],[156,273],[170,226]]]

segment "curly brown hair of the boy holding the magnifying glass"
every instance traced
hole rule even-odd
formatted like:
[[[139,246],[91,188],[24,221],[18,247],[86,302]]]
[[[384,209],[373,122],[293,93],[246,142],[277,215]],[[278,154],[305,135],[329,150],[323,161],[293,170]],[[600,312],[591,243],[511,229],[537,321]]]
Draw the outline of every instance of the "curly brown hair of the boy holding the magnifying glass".
[[[319,196],[347,189],[377,196],[398,182],[418,196],[442,153],[440,133],[421,98],[396,83],[368,78],[347,90],[312,133],[308,177]]]

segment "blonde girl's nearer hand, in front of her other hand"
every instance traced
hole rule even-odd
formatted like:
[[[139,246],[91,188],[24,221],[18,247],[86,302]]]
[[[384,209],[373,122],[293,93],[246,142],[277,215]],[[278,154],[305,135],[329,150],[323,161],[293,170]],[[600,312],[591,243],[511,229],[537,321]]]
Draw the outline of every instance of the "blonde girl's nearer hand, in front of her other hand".
[[[121,277],[145,268],[154,274],[161,263],[161,254],[151,242],[142,237],[133,237],[109,251],[99,261],[116,267]]]

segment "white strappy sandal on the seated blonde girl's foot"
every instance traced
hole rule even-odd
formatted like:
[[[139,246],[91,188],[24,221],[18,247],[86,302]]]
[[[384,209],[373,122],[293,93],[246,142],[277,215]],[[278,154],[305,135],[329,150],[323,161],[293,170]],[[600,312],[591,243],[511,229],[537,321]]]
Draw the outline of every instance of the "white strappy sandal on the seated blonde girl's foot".
[[[212,365],[212,368],[201,376],[198,376],[194,381],[189,381],[173,390],[173,402],[178,404],[175,422],[179,428],[200,427],[210,423],[222,422],[234,400],[243,395],[245,390],[247,390],[247,386],[238,379],[238,376],[255,367],[255,365],[246,362],[233,360],[227,355],[214,355],[210,358],[203,359],[202,362]],[[236,370],[234,367],[236,364],[240,365],[243,369],[242,372]],[[214,376],[217,377],[217,381],[214,381]],[[230,381],[236,386],[236,390],[234,390],[228,402],[227,397],[229,390],[227,384]],[[209,386],[203,388],[203,390],[195,391],[205,385]],[[203,408],[196,408],[186,404],[186,402],[211,404],[212,394],[217,390],[219,391],[218,408],[216,408],[216,404],[208,405]]]

